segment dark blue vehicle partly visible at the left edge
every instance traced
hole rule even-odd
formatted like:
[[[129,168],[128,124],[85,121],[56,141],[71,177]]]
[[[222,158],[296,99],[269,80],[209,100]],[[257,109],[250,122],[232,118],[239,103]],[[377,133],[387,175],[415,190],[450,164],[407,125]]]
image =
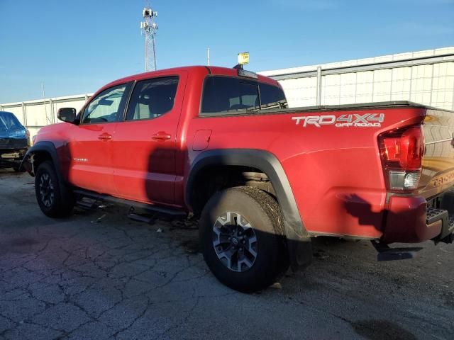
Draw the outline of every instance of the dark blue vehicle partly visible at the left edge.
[[[21,161],[30,147],[30,133],[11,112],[0,111],[0,169],[21,169]]]

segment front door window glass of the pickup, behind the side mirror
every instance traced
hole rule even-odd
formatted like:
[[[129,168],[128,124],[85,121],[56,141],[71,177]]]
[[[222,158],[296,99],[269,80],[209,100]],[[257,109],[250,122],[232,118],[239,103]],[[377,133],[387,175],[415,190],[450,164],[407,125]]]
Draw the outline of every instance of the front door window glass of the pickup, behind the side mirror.
[[[123,113],[126,84],[102,91],[90,101],[84,111],[82,124],[110,123],[118,120]]]

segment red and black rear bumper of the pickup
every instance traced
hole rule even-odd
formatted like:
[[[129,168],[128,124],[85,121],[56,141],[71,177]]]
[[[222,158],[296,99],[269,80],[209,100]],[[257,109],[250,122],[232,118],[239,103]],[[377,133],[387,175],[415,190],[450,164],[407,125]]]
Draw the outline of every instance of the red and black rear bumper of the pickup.
[[[427,201],[420,196],[389,199],[383,241],[386,243],[452,243],[454,239],[454,193]]]

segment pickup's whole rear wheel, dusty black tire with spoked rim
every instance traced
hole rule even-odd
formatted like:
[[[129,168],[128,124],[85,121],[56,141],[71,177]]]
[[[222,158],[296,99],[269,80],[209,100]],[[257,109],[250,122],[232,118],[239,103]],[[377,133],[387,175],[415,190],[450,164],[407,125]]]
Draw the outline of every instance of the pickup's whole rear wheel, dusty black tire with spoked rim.
[[[204,259],[228,287],[252,293],[289,268],[282,212],[267,193],[246,186],[220,191],[206,203],[199,223]]]

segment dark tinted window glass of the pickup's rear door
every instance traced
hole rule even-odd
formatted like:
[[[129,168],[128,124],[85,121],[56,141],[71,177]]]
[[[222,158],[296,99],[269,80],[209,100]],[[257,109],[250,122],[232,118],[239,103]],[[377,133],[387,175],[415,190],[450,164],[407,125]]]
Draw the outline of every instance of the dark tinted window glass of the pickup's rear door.
[[[126,120],[160,117],[172,110],[177,94],[178,77],[138,81],[128,106]]]

